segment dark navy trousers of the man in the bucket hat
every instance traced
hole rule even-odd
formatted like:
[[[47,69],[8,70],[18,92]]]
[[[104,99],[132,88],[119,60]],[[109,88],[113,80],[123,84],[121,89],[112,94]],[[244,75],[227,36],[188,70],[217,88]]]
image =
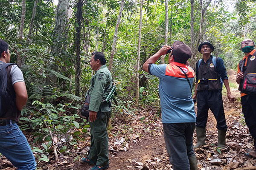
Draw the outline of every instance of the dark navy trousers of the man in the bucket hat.
[[[227,130],[221,90],[218,91],[198,91],[197,93],[197,116],[196,126],[205,128],[208,119],[208,111],[211,109],[216,121],[218,130]]]

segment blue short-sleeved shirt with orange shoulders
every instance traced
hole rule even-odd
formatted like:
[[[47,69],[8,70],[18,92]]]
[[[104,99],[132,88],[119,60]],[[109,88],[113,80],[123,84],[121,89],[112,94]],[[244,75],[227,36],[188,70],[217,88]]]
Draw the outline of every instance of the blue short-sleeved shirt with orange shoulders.
[[[189,77],[192,85],[195,77],[194,70],[178,62],[169,65],[149,66],[149,73],[159,77],[160,105],[163,123],[189,123],[195,122],[194,102],[189,83],[177,67],[180,66]]]

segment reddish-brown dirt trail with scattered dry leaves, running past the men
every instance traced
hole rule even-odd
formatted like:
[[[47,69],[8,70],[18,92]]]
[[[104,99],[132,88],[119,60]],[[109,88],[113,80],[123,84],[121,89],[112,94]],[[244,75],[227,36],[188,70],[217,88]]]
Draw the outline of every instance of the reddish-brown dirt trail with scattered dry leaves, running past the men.
[[[235,81],[236,71],[230,70],[227,74],[229,75],[229,82],[231,85],[230,90],[233,96],[237,99],[235,103],[229,103],[227,96],[223,95],[224,111],[227,119],[227,126],[229,127],[227,131],[227,147],[222,154],[218,154],[215,150],[216,147],[212,146],[212,144],[218,144],[218,130],[216,128],[216,120],[211,111],[209,111],[206,139],[207,146],[195,150],[199,170],[226,170],[227,166],[230,165],[230,158],[237,154],[237,147],[234,147],[237,145],[239,145],[239,151],[241,151],[234,158],[235,162],[239,162],[237,167],[250,167],[256,165],[255,159],[247,159],[243,155],[245,148],[252,147],[252,139],[249,135],[247,126],[242,124],[243,116],[241,115],[241,102],[239,100],[240,92],[237,90],[238,85]],[[196,107],[195,111],[197,111]],[[111,153],[109,170],[172,170],[172,165],[169,163],[169,157],[163,139],[161,122],[157,121],[157,124],[158,125],[155,128],[158,130],[158,133],[156,135],[145,135],[140,139],[140,142],[132,142],[126,152],[119,150],[117,153]],[[113,139],[110,139],[110,141],[111,140]],[[113,142],[110,142],[110,144],[115,145]],[[196,144],[195,133],[194,144]],[[212,155],[219,158],[221,164],[211,164],[210,159],[212,158]],[[84,166],[77,167],[77,170],[82,170],[83,168]]]

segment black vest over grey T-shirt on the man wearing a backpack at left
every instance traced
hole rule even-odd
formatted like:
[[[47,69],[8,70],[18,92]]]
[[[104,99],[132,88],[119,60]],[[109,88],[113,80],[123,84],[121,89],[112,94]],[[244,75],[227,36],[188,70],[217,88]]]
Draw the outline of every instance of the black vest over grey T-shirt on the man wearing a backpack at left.
[[[20,119],[20,111],[18,111],[17,105],[16,105],[16,93],[15,93],[15,90],[12,85],[12,77],[10,74],[11,69],[12,69],[12,65],[10,65],[9,67],[6,68],[6,74],[7,74],[7,89],[6,89],[6,91],[8,92],[8,94],[10,95],[12,100],[10,103],[10,108],[1,117],[6,118],[6,119],[12,119],[12,120],[15,120],[16,122],[18,122]]]

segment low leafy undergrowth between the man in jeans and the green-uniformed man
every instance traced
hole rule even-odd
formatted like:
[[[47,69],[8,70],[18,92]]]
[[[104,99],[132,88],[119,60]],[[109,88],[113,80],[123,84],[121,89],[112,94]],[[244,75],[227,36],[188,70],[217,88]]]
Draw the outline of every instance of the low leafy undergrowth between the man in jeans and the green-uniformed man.
[[[45,153],[52,153],[53,141],[49,135],[49,129],[55,134],[55,142],[58,142],[59,152],[67,151],[68,145],[77,144],[81,132],[87,133],[88,125],[84,126],[85,120],[76,112],[79,108],[71,103],[59,103],[54,106],[50,103],[42,103],[38,100],[32,102],[32,108],[23,109],[23,116],[20,121],[22,130],[32,130],[34,143],[41,143],[41,147],[35,147],[33,151],[40,153],[39,161],[49,161]],[[67,115],[72,113],[72,116]],[[28,119],[28,115],[30,118]]]

